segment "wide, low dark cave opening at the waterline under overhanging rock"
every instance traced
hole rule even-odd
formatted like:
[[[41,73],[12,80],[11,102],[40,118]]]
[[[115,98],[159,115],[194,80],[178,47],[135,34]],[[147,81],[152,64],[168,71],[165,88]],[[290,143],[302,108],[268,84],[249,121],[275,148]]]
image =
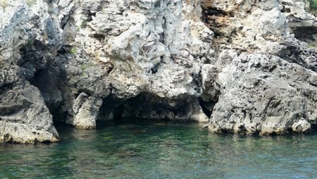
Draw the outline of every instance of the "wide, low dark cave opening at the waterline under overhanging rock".
[[[138,120],[198,122],[196,117],[201,112],[210,118],[214,104],[214,101],[202,101],[192,96],[166,99],[141,93],[130,99],[118,99],[110,95],[103,99],[97,123],[120,124]]]

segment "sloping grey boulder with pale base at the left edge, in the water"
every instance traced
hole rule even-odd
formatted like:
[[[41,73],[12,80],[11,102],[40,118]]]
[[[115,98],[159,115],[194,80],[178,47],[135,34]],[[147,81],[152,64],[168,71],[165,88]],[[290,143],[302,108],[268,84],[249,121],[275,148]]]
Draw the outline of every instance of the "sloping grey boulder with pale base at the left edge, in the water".
[[[0,92],[0,142],[56,142],[52,116],[36,87],[4,87]]]

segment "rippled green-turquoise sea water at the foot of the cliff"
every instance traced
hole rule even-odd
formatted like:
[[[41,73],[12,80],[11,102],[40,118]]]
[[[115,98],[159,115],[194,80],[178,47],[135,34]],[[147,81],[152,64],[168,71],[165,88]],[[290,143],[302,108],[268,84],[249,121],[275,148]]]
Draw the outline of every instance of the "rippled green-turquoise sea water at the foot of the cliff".
[[[58,128],[54,144],[0,147],[0,178],[317,178],[317,135],[214,135],[197,123]]]

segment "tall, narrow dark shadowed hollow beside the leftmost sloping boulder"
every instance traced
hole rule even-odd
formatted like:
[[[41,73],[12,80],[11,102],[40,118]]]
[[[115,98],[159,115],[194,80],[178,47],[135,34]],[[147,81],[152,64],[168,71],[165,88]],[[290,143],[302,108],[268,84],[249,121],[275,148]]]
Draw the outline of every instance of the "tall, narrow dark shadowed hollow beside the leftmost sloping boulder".
[[[18,75],[39,89],[54,123],[63,123],[66,113],[60,110],[63,101],[58,89],[61,72],[54,63],[55,56],[47,53],[45,44],[32,38],[20,49],[20,54],[18,66],[22,73]]]

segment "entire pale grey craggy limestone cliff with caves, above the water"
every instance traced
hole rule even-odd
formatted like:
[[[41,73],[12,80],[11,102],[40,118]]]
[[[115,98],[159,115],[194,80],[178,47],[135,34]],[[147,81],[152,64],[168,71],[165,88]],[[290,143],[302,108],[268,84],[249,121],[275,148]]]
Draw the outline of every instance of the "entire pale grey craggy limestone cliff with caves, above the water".
[[[53,121],[94,129],[120,118],[308,132],[317,124],[317,23],[308,7],[0,0],[0,142],[54,142]]]

